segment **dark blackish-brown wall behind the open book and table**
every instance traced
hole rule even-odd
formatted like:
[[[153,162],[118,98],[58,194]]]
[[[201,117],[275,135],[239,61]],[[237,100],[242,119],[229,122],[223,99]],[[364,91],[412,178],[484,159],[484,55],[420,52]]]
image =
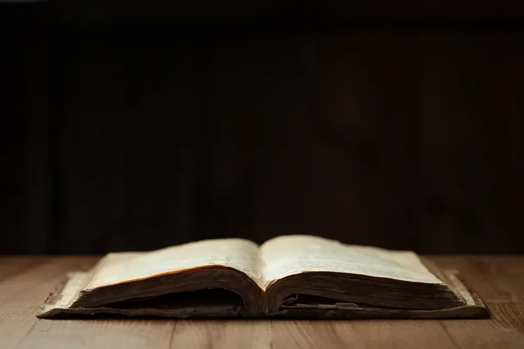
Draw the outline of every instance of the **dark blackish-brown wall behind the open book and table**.
[[[288,233],[524,252],[512,2],[75,0],[0,19],[0,253]]]

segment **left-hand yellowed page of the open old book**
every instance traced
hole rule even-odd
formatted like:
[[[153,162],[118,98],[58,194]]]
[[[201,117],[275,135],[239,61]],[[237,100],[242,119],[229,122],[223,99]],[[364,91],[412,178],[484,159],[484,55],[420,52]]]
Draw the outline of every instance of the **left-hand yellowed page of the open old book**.
[[[216,239],[166,247],[151,252],[110,253],[94,270],[86,290],[193,268],[224,266],[237,269],[262,285],[258,245],[244,239]]]

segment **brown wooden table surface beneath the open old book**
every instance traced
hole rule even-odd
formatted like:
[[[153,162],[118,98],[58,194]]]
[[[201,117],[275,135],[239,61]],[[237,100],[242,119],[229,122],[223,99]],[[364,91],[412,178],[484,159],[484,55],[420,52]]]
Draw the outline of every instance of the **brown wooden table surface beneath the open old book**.
[[[524,348],[524,257],[432,256],[459,269],[490,320],[41,320],[35,312],[68,271],[97,257],[0,257],[0,348]]]

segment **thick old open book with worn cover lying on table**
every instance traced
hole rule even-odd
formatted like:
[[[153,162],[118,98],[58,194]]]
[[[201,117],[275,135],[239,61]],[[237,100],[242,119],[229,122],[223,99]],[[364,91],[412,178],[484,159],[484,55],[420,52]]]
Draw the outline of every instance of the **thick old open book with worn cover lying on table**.
[[[287,235],[110,253],[73,273],[37,316],[449,318],[488,315],[455,272],[410,251]]]

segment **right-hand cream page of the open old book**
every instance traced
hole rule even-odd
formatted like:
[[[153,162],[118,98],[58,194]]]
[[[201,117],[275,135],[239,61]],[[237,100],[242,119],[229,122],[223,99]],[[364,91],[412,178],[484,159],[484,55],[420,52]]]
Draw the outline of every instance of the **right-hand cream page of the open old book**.
[[[346,245],[310,235],[287,235],[260,247],[264,287],[305,272],[336,272],[442,284],[411,251]]]

